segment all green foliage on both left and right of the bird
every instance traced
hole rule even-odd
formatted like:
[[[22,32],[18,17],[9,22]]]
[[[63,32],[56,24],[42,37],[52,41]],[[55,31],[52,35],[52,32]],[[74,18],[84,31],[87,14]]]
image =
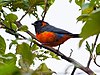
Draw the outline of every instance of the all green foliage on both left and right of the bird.
[[[46,2],[47,1],[47,2]],[[69,0],[72,2],[73,0]],[[28,39],[19,32],[28,33],[28,27],[26,25],[18,25],[17,22],[21,20],[27,14],[33,15],[38,20],[38,7],[41,7],[46,12],[50,6],[54,3],[54,0],[0,0],[0,29],[4,29],[6,33],[15,36],[15,39],[11,39],[9,49],[14,45],[14,53],[5,53],[7,43],[0,35],[0,75],[52,75],[53,71],[47,67],[45,63],[42,63],[36,70],[30,69],[31,65],[35,65],[35,60],[44,61],[48,58],[54,58],[59,60],[60,58],[53,52],[48,50],[42,50],[33,41],[34,39]],[[76,5],[80,7],[81,15],[77,18],[77,21],[82,21],[84,26],[81,30],[80,37],[82,40],[79,46],[82,45],[83,41],[90,36],[97,35],[95,42],[90,45],[86,42],[86,50],[93,57],[93,52],[100,55],[100,43],[96,45],[99,33],[100,33],[100,1],[99,0],[75,0]],[[7,8],[11,13],[7,13],[4,8]],[[47,9],[47,10],[45,10]],[[25,14],[18,20],[18,16],[13,12],[23,10]],[[43,14],[42,14],[43,16]],[[10,36],[11,36],[10,35]],[[24,42],[27,40],[27,42]],[[21,42],[19,42],[21,41]],[[96,48],[96,50],[95,50]],[[17,58],[19,55],[19,59]],[[18,62],[18,66],[16,66]],[[89,62],[90,64],[90,62]]]

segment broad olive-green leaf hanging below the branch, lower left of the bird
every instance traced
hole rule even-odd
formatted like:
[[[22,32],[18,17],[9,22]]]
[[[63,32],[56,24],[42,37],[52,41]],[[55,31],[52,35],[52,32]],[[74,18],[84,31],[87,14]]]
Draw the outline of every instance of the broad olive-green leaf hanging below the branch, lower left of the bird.
[[[30,46],[27,43],[18,44],[16,48],[16,53],[22,56],[24,62],[27,62],[29,65],[33,62],[33,55],[30,49]]]

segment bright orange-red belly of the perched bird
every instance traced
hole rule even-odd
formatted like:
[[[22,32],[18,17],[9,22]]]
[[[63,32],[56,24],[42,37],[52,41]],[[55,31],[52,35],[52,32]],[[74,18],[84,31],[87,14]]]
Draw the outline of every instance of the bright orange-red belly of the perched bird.
[[[58,39],[58,36],[56,36],[53,32],[43,32],[40,34],[36,34],[36,38],[42,44],[54,47],[63,44],[66,40],[70,38],[70,36],[67,36],[65,34],[63,37]]]

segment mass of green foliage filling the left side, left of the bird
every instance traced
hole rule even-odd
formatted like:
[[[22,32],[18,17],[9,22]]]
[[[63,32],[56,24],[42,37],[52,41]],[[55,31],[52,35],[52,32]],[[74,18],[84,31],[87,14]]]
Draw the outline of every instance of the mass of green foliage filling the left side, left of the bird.
[[[47,1],[47,9],[54,3],[54,0]],[[30,43],[19,42],[24,40],[22,35],[18,32],[27,32],[28,27],[26,25],[18,26],[16,24],[18,17],[13,12],[23,10],[25,14],[31,14],[39,19],[37,14],[37,7],[45,9],[45,0],[0,0],[0,25],[1,28],[13,36],[15,39],[11,40],[9,44],[9,49],[16,47],[16,53],[7,53],[6,51],[6,41],[0,36],[0,75],[34,75],[36,72],[48,72],[48,75],[52,74],[52,71],[42,63],[35,71],[30,69],[30,66],[35,65],[35,60],[44,61],[47,58],[59,59],[57,55],[52,54],[50,51],[39,49],[39,47],[34,44],[32,40],[27,39]],[[7,8],[11,13],[6,13],[4,8]],[[22,16],[23,18],[24,16]],[[21,19],[19,20],[21,21]],[[23,36],[24,37],[24,36]],[[7,44],[8,45],[8,44]],[[17,58],[17,55],[20,57]],[[18,60],[18,65],[16,66],[16,61]]]

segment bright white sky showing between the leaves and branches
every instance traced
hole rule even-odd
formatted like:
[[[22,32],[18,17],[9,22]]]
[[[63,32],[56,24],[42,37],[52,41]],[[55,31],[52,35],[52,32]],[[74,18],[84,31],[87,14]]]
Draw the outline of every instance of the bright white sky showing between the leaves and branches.
[[[49,24],[56,26],[58,28],[65,29],[69,32],[72,33],[80,33],[83,24],[81,22],[77,22],[76,18],[80,15],[79,7],[74,3],[69,3],[69,0],[55,0],[54,4],[50,7],[49,11],[46,14],[45,21],[47,21]],[[6,10],[9,13],[9,10]],[[39,14],[41,15],[42,9],[39,8]],[[22,11],[19,11],[16,13],[20,19],[20,17],[24,14]],[[22,20],[22,24],[28,25],[29,30],[33,33],[34,32],[34,27],[31,25],[36,21],[34,17],[29,17],[28,15]],[[4,32],[2,32],[4,33]],[[24,33],[23,33],[24,34]],[[2,34],[2,36],[5,36]],[[9,36],[8,34],[6,36]],[[27,36],[27,35],[26,35]],[[10,38],[13,38],[10,37]],[[8,39],[6,37],[5,39]],[[94,42],[94,37],[90,37],[89,43]],[[76,61],[80,62],[82,65],[86,66],[89,53],[85,50],[85,42],[83,43],[81,48],[78,48],[80,39],[79,38],[74,38],[66,41],[64,44],[61,45],[60,51],[64,53],[66,56],[70,55],[71,49],[73,50],[72,53],[72,58],[75,59]],[[100,40],[99,40],[100,42]],[[9,43],[9,42],[7,42]],[[11,52],[14,52],[13,49]],[[100,60],[100,58],[98,58]],[[53,71],[57,72],[57,75],[64,75],[65,69],[69,66],[72,65],[68,63],[65,60],[56,60],[56,59],[47,59],[46,61],[47,66],[51,68]],[[35,68],[39,66],[41,61],[36,61]],[[100,63],[100,61],[98,61]],[[72,67],[73,68],[73,67]],[[71,72],[72,68],[69,69],[68,71]],[[96,67],[93,62],[91,63],[90,66],[91,69],[94,71],[99,70],[100,68]],[[82,72],[80,70],[77,70],[77,72]],[[98,73],[99,74],[99,73]],[[68,74],[69,75],[69,74]],[[86,74],[83,74],[86,75]]]

